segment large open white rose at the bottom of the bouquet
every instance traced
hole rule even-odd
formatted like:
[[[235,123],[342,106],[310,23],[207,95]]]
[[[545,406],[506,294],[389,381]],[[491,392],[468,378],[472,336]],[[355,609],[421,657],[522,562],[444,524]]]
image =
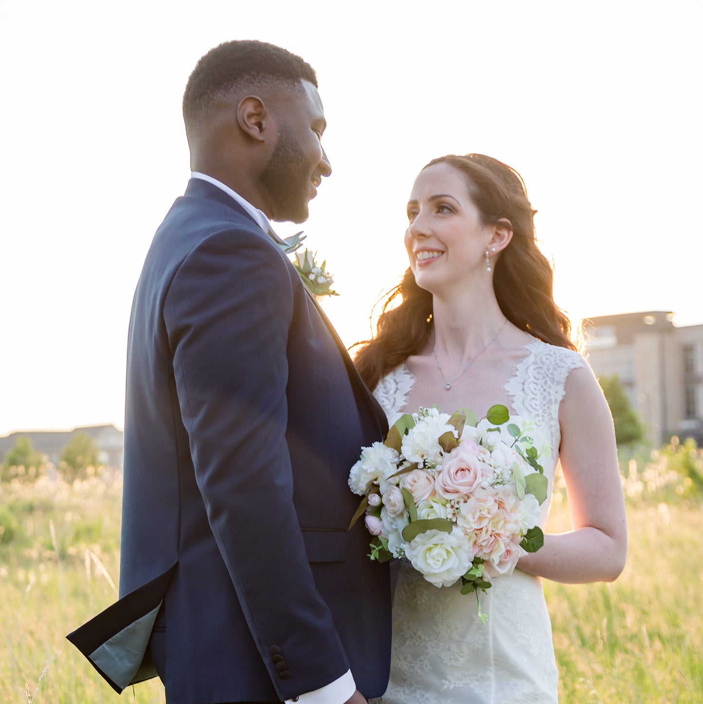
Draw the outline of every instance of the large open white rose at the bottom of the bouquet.
[[[419,534],[405,548],[405,555],[434,586],[454,584],[466,574],[474,558],[466,536],[457,528],[451,533],[429,530]]]

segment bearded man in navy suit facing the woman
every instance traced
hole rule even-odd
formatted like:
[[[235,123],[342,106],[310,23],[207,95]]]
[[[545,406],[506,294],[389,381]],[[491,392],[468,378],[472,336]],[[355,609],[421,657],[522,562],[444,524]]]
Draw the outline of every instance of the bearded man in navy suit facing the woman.
[[[221,44],[183,113],[193,174],[129,325],[120,601],[68,638],[168,704],[360,703],[388,682],[389,586],[346,479],[387,425],[269,222],[331,172],[315,72]]]

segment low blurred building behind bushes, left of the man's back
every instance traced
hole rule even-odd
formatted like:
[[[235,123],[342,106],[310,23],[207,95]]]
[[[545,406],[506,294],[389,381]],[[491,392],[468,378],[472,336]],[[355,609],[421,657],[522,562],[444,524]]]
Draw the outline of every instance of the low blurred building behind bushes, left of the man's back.
[[[0,438],[0,461],[14,446],[19,437],[27,437],[32,441],[34,449],[42,453],[49,462],[58,467],[63,448],[67,446],[77,433],[84,433],[94,439],[100,451],[99,460],[106,467],[122,471],[123,433],[114,425],[92,425],[73,430],[28,430],[12,433]]]

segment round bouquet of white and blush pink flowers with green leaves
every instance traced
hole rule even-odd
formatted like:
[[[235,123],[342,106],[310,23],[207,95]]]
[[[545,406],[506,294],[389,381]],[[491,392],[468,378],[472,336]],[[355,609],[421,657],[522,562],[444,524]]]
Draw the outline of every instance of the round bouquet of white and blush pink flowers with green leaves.
[[[490,588],[510,574],[519,548],[544,544],[537,521],[547,497],[533,424],[493,406],[486,418],[437,406],[401,416],[384,443],[362,448],[349,474],[364,496],[362,515],[374,536],[372,560],[409,560],[435,586],[462,582],[462,593]],[[476,593],[478,601],[478,593]],[[479,617],[486,621],[481,612]]]

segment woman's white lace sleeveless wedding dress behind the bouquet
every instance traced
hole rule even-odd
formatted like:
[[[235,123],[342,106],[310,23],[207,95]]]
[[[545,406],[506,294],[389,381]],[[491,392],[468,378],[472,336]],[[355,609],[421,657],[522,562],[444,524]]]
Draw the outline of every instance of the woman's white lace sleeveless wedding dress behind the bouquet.
[[[540,463],[549,479],[542,505],[544,527],[559,451],[559,403],[569,372],[585,365],[578,353],[535,340],[505,391],[511,413],[533,420],[536,436],[551,444]],[[414,377],[400,365],[374,395],[392,424],[405,408]],[[441,399],[438,399],[441,401]],[[449,410],[449,409],[447,409]],[[537,443],[536,443],[537,446]],[[488,622],[481,624],[474,594],[460,584],[438,589],[407,562],[393,560],[391,681],[372,704],[549,704],[557,702],[557,666],[552,627],[536,577],[515,570],[479,592]]]

